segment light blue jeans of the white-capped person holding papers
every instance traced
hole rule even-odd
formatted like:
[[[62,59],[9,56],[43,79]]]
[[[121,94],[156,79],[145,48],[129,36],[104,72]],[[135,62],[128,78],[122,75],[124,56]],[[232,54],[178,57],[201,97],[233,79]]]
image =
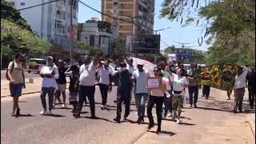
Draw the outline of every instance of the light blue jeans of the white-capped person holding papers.
[[[41,97],[43,110],[46,110],[46,94],[48,94],[48,97],[49,97],[49,110],[51,110],[53,108],[54,90],[55,90],[54,87],[42,87],[40,97]]]

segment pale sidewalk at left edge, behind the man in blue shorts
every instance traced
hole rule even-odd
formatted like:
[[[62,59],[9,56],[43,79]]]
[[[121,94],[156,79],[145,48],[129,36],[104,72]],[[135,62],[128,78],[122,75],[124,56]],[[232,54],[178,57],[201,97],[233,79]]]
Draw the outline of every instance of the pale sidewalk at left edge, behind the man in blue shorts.
[[[69,78],[66,78],[67,84],[66,88],[69,87]],[[30,83],[30,79],[26,78],[26,89],[22,90],[22,94],[32,94],[32,93],[39,93],[42,88],[42,78],[34,78],[34,82]],[[1,98],[10,96],[9,90],[9,81],[1,79]]]

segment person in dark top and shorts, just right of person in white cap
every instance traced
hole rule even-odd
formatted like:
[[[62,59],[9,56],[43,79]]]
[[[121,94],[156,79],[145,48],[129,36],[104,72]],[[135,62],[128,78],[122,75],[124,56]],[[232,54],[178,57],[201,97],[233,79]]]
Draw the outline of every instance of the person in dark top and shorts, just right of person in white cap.
[[[66,109],[66,70],[68,68],[64,65],[64,61],[63,60],[58,60],[58,74],[59,77],[58,79],[56,79],[57,82],[57,90],[55,90],[54,93],[54,105],[53,108],[55,106],[55,103],[57,101],[58,95],[62,94],[63,97],[63,104],[62,104],[62,108]]]

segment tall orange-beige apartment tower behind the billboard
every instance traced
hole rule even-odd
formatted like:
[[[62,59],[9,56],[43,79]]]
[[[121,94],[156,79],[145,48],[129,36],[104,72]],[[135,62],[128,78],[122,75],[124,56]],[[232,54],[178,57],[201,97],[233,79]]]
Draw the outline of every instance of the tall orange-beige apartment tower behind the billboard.
[[[112,24],[116,38],[154,34],[154,0],[102,0],[102,13],[113,17],[102,14],[102,21]]]

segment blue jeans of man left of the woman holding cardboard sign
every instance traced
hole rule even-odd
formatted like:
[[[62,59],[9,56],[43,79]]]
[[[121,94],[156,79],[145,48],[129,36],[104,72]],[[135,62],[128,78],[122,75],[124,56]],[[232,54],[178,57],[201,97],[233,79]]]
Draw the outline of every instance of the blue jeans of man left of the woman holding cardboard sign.
[[[144,118],[145,115],[145,102],[148,98],[147,93],[135,94],[136,106],[138,109],[138,118]]]

